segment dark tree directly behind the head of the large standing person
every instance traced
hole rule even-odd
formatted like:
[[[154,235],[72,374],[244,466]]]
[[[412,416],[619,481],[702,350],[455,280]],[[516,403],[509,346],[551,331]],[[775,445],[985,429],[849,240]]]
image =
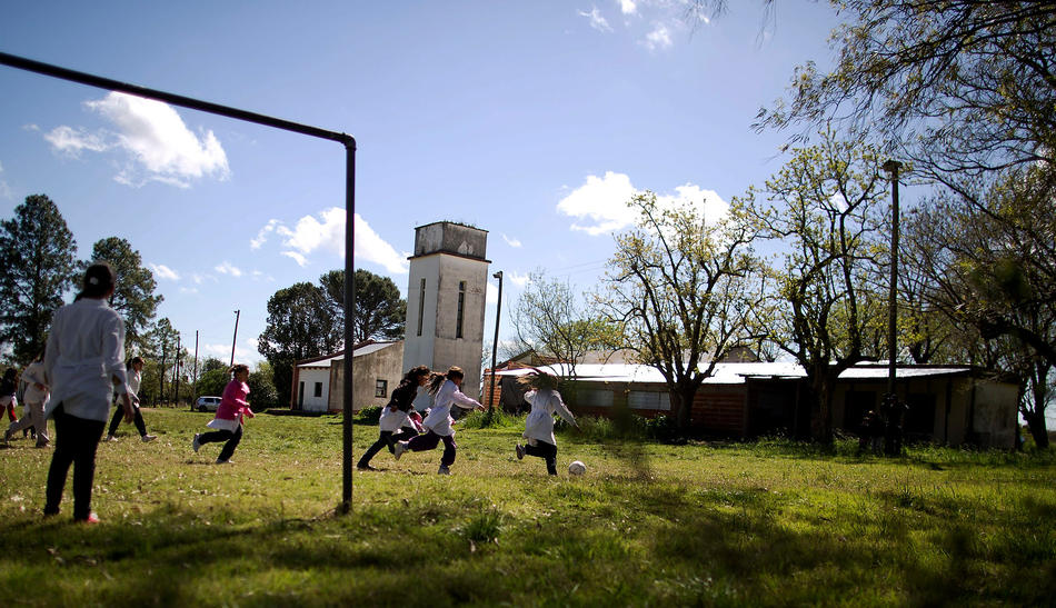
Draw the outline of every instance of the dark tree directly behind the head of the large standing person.
[[[117,237],[96,241],[91,259],[81,262],[82,269],[100,260],[109,262],[118,278],[110,306],[124,318],[124,349],[130,352],[143,350],[150,321],[165,299],[155,295],[158,283],[153,273],[143,267],[139,251],[132,249],[127,240]]]

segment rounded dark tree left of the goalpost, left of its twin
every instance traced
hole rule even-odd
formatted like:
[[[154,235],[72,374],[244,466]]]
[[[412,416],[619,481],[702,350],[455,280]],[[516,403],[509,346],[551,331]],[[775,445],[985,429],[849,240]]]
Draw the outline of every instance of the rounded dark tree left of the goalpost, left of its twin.
[[[257,350],[271,363],[278,401],[288,403],[293,363],[332,353],[341,343],[322,290],[309,282],[280,289],[268,299],[268,320]]]

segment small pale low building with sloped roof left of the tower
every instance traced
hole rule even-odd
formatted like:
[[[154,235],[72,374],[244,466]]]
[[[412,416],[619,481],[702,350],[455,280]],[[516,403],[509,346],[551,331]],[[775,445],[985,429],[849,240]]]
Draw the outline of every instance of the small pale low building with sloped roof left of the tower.
[[[358,345],[352,350],[352,411],[388,403],[404,377],[404,341]],[[297,361],[293,366],[291,409],[342,411],[345,352]]]

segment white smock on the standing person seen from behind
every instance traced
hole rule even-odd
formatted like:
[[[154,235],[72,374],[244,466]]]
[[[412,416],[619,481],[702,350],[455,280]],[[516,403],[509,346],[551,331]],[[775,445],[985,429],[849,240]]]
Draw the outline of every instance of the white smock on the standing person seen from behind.
[[[96,298],[60,308],[51,321],[44,375],[51,386],[46,416],[62,403],[70,416],[106,422],[113,378],[118,393],[128,390],[121,316]]]

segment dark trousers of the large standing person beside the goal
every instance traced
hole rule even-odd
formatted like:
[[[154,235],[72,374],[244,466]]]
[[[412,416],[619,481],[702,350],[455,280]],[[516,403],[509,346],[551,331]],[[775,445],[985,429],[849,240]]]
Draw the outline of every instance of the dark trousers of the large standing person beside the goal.
[[[54,417],[54,453],[48,470],[44,515],[59,512],[66,477],[73,466],[73,519],[88,519],[91,514],[91,486],[96,478],[96,448],[102,439],[102,420],[87,420],[70,416],[62,403],[52,411]]]

